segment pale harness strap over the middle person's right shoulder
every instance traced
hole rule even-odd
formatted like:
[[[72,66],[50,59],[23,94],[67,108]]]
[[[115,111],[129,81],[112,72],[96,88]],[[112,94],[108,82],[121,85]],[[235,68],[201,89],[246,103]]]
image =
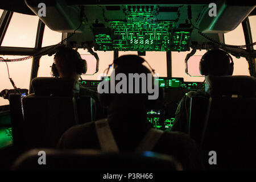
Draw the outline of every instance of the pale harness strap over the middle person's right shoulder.
[[[162,130],[148,130],[146,136],[142,139],[135,152],[151,151],[155,147],[156,143],[161,138],[163,133],[164,131]]]

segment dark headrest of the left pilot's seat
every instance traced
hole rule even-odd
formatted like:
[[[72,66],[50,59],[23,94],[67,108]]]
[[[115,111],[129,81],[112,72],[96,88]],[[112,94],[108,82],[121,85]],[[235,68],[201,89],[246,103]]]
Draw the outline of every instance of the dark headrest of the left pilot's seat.
[[[73,78],[36,77],[32,80],[36,96],[75,96],[79,83]]]

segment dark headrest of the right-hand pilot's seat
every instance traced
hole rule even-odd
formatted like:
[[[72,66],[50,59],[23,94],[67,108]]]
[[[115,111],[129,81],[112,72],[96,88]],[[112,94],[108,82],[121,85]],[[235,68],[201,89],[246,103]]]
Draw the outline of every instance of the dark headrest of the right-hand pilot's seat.
[[[252,76],[209,76],[207,81],[211,96],[255,96],[256,78]]]

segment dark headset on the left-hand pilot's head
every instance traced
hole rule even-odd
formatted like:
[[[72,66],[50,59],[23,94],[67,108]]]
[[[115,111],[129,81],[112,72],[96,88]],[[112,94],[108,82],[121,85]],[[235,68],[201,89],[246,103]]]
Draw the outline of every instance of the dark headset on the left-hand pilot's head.
[[[74,49],[69,47],[58,47],[55,53],[55,57],[59,55],[65,56],[67,53],[71,53],[75,59],[74,61],[76,62],[77,74],[79,75],[82,75],[82,73],[85,74],[87,72],[87,62],[86,60],[82,59],[79,52],[75,51]],[[59,72],[57,71],[56,64],[53,63],[51,67],[52,67],[52,70],[51,70],[52,76],[59,77],[60,75],[59,75]]]

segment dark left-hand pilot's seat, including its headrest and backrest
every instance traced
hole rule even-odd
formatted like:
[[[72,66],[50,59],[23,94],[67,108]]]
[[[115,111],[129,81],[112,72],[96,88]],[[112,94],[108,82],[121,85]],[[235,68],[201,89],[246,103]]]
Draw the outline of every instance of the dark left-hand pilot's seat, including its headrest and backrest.
[[[27,148],[55,147],[65,130],[78,123],[73,79],[34,78],[35,94],[24,97]]]

